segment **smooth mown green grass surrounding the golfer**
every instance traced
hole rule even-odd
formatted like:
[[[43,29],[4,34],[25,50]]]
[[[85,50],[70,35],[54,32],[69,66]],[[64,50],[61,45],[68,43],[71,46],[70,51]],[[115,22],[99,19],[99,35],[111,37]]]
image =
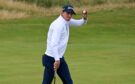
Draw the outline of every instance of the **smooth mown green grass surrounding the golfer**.
[[[134,13],[90,13],[87,25],[71,28],[65,58],[74,84],[135,84]],[[41,55],[55,17],[0,21],[0,84],[42,83]]]

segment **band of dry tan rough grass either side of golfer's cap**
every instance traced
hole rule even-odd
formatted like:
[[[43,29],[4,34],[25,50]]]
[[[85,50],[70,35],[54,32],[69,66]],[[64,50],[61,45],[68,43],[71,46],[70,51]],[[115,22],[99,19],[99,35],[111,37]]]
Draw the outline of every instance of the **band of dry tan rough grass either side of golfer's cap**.
[[[135,8],[135,3],[107,3],[96,6],[81,6],[75,7],[78,14],[81,14],[83,9],[88,12],[96,12],[100,10],[112,10],[119,8]],[[24,2],[16,2],[12,0],[0,0],[0,19],[17,19],[31,16],[53,16],[61,12],[61,7],[42,8],[35,4],[28,4]]]

